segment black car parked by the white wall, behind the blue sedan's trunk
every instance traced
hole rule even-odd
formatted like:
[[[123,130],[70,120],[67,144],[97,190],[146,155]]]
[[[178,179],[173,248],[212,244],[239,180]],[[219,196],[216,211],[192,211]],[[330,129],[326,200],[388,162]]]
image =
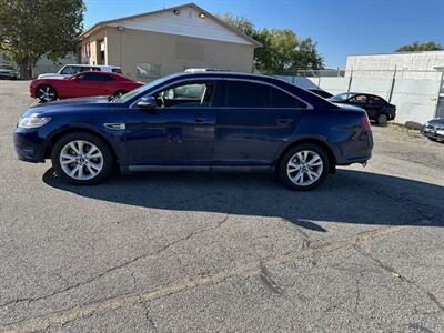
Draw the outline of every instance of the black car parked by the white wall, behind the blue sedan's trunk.
[[[351,104],[364,109],[369,118],[382,127],[396,117],[396,107],[375,94],[343,92],[332,97],[330,100],[335,103]]]

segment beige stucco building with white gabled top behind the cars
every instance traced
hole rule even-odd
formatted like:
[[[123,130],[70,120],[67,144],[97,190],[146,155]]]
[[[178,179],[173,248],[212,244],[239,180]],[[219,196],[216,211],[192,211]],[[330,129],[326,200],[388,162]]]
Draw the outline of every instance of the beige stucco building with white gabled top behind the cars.
[[[150,81],[188,68],[251,72],[261,44],[194,3],[99,22],[80,36],[82,63]]]

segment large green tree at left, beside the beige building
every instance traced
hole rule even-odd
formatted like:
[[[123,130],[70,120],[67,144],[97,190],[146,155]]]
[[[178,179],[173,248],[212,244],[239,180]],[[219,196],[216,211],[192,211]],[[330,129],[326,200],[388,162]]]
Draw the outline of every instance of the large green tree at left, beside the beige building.
[[[0,50],[29,79],[41,56],[58,61],[74,50],[84,9],[83,0],[0,0]]]

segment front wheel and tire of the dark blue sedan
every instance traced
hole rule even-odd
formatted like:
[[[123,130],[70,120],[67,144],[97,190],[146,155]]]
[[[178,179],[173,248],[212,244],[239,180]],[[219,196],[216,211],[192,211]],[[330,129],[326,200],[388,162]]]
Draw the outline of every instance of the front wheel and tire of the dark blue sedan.
[[[79,185],[92,185],[107,180],[115,162],[107,142],[82,132],[62,137],[52,150],[51,160],[62,180]]]

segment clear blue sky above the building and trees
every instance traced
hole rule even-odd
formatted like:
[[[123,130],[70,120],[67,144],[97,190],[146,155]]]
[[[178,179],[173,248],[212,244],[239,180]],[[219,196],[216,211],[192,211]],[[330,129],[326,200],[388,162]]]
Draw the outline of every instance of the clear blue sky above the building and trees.
[[[84,28],[192,0],[84,0]],[[414,41],[444,44],[444,0],[194,0],[211,13],[231,12],[261,28],[312,38],[329,68],[347,54],[386,53]]]

